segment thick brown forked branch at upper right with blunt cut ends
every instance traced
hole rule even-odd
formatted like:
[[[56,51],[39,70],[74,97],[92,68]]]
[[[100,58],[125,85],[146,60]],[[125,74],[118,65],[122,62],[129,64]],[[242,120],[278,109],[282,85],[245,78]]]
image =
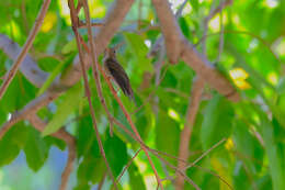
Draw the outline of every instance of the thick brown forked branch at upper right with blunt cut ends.
[[[218,92],[229,100],[238,101],[239,94],[231,83],[202,56],[182,35],[181,30],[171,12],[167,0],[152,0],[156,8],[161,31],[166,38],[170,62],[175,63],[181,57],[196,74]],[[172,52],[170,54],[169,52]]]

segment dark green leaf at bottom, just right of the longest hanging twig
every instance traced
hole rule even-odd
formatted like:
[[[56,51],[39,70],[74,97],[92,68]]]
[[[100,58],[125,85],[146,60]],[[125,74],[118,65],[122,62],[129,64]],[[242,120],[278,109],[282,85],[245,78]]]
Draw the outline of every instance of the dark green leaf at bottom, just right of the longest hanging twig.
[[[107,138],[104,143],[106,158],[113,175],[116,177],[127,164],[127,147],[126,144],[116,135],[112,137],[107,133]]]

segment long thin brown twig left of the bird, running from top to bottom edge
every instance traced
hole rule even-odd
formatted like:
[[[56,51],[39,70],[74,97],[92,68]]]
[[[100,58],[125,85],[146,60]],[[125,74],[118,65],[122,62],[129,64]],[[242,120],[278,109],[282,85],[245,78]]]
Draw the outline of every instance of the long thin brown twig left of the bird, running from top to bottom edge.
[[[79,33],[77,31],[78,22],[77,22],[77,14],[76,14],[73,0],[68,0],[68,5],[69,5],[69,9],[70,9],[72,30],[73,30],[73,33],[76,35],[76,41],[77,41],[79,59],[80,59],[81,70],[82,70],[82,76],[83,76],[83,81],[84,81],[86,96],[88,98],[88,103],[89,103],[89,109],[90,109],[90,113],[91,113],[92,124],[93,124],[93,127],[94,127],[94,131],[95,131],[95,135],[96,135],[96,141],[98,141],[98,144],[99,144],[100,153],[101,153],[101,155],[102,155],[102,157],[103,157],[103,159],[105,161],[109,175],[110,175],[111,179],[113,180],[115,189],[118,189],[116,180],[115,180],[115,178],[114,178],[114,176],[112,174],[111,167],[110,167],[110,165],[107,163],[105,150],[104,150],[104,147],[103,147],[103,144],[102,144],[102,139],[101,139],[101,136],[100,136],[100,133],[99,133],[99,130],[98,130],[98,125],[96,125],[95,112],[94,112],[94,109],[93,109],[93,105],[92,105],[92,100],[91,100],[91,90],[90,90],[90,87],[89,87],[89,83],[88,83],[88,76],[87,76],[86,62],[84,62],[84,58],[83,58],[83,51],[81,48],[80,35],[79,35]]]

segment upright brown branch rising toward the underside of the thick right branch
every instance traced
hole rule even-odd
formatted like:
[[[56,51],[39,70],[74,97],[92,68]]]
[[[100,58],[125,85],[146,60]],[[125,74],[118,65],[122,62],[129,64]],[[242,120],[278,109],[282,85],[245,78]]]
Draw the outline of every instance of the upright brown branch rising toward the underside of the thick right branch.
[[[189,144],[191,139],[191,134],[193,131],[193,125],[195,123],[196,114],[198,112],[198,107],[202,98],[204,89],[204,80],[201,78],[197,78],[193,82],[193,89],[191,92],[191,98],[189,100],[189,107],[187,107],[187,112],[186,112],[186,122],[184,125],[183,131],[181,132],[180,136],[180,148],[179,148],[179,158],[187,160],[189,158]],[[185,163],[179,161],[178,163],[178,168],[183,170],[185,168]],[[178,178],[175,181],[175,189],[180,190],[183,189],[184,186],[184,178],[180,174],[176,174]]]

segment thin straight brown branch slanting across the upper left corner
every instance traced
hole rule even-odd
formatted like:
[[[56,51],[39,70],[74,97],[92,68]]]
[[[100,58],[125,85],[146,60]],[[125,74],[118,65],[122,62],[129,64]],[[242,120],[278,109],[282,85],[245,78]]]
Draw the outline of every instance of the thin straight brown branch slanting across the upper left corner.
[[[35,20],[35,24],[32,29],[32,31],[30,32],[29,34],[29,37],[24,44],[24,47],[22,48],[21,53],[19,54],[16,60],[14,62],[12,68],[9,70],[8,75],[7,75],[7,78],[5,80],[3,81],[3,83],[1,85],[1,88],[0,88],[0,100],[2,99],[8,86],[10,85],[10,82],[12,81],[12,79],[14,78],[16,71],[18,71],[18,68],[19,66],[21,65],[21,63],[24,60],[29,49],[31,48],[34,40],[35,40],[35,36],[38,32],[38,30],[41,29],[42,26],[42,23],[44,21],[44,18],[45,18],[45,14],[47,12],[47,9],[49,7],[49,3],[50,3],[50,0],[45,0],[41,10],[39,10],[39,13]]]

